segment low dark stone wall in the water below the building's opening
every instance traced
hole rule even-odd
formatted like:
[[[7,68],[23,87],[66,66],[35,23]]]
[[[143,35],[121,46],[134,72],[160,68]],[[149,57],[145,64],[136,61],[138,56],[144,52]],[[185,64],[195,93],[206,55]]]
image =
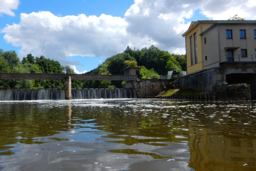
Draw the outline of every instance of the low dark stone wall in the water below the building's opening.
[[[217,100],[251,100],[250,85],[230,84],[215,88]]]

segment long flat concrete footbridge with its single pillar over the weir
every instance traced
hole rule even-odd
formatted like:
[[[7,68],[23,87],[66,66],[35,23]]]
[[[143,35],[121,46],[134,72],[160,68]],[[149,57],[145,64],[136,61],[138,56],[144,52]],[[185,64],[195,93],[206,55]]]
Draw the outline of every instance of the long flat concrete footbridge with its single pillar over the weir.
[[[38,74],[38,73],[0,73],[0,79],[12,80],[65,80],[65,99],[71,99],[71,79],[73,80],[129,80],[135,81],[136,75],[100,74]]]

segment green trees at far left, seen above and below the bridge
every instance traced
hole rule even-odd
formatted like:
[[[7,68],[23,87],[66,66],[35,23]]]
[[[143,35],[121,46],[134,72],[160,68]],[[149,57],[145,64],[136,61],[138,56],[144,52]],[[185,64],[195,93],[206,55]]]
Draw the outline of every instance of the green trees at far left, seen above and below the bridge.
[[[64,71],[64,72],[63,72]],[[61,66],[58,61],[50,60],[44,56],[34,57],[28,54],[22,59],[18,58],[14,50],[0,49],[0,72],[13,73],[69,73],[75,72],[69,66]],[[72,80],[72,88],[82,88],[79,80]],[[0,80],[0,89],[32,89],[32,88],[64,88],[64,80]]]

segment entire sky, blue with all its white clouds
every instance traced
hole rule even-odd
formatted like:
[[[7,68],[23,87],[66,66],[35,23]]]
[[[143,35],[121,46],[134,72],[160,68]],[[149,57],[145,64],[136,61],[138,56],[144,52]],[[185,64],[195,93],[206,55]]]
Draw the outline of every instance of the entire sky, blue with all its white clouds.
[[[74,65],[77,72],[92,70],[127,45],[140,49],[153,44],[182,54],[181,34],[191,21],[256,16],[254,0],[13,0],[16,6],[5,2],[0,0],[0,6],[15,16],[0,8],[0,48],[16,50],[20,58],[44,55]]]

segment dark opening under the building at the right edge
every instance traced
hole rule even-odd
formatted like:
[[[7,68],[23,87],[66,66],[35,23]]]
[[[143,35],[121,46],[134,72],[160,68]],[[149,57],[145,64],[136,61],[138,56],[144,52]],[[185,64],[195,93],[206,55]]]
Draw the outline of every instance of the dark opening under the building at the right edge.
[[[228,84],[246,83],[250,84],[251,99],[256,99],[256,74],[254,73],[239,73],[226,74],[226,82]]]

